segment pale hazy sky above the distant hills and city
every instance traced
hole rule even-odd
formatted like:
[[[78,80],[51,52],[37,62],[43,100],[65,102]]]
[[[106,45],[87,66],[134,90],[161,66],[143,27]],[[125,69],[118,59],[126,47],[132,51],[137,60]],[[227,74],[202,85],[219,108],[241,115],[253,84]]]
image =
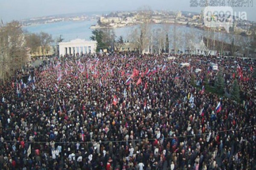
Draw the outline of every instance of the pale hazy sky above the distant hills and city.
[[[197,0],[200,2],[200,0]],[[226,0],[227,3],[228,0]],[[244,0],[247,1],[247,0]],[[249,0],[251,1],[251,0]],[[255,4],[254,4],[255,3]],[[153,10],[201,11],[201,7],[190,7],[190,0],[0,0],[0,19],[3,22],[54,14],[94,11],[129,11],[143,6]],[[253,7],[239,7],[235,11],[246,11],[249,20],[256,21],[256,0]]]

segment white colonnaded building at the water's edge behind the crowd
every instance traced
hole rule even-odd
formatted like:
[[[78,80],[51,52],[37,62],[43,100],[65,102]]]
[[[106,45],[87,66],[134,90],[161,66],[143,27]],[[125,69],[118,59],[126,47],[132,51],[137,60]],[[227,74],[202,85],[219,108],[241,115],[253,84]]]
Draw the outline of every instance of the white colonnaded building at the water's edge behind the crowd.
[[[82,39],[71,40],[70,42],[59,42],[59,56],[89,54],[96,52],[96,41],[85,41]]]

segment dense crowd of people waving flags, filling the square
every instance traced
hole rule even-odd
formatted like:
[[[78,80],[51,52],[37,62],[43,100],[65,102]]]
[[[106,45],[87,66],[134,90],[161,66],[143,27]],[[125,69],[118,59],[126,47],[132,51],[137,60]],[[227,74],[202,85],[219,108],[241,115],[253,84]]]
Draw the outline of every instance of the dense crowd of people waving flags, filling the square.
[[[227,93],[239,81],[241,102],[201,90],[216,81],[209,62]],[[17,73],[0,86],[0,169],[256,169],[254,68],[239,58],[120,53]]]

